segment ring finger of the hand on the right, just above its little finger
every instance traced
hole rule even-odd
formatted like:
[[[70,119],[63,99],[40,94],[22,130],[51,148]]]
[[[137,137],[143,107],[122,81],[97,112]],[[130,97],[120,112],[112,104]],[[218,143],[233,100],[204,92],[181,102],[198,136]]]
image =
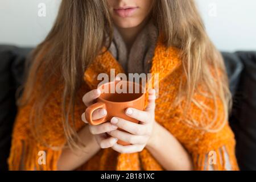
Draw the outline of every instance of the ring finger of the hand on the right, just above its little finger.
[[[118,138],[123,142],[131,143],[131,144],[144,144],[147,143],[147,137],[140,136],[140,135],[133,135],[127,133],[125,131],[114,130],[108,132],[108,134],[114,138]]]

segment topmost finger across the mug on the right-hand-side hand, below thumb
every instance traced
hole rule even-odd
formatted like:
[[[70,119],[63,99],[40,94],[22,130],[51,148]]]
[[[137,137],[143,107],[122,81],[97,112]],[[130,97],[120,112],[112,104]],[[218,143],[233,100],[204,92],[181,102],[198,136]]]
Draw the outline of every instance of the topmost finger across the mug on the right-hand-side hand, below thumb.
[[[148,114],[148,111],[142,111],[129,107],[126,109],[125,114],[144,123],[148,123],[151,121],[151,115]]]

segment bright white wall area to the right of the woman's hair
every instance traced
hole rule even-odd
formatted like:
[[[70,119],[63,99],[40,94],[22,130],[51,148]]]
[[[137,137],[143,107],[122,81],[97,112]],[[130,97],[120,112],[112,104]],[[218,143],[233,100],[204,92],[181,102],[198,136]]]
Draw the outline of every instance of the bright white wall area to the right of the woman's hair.
[[[197,0],[210,38],[221,50],[256,50],[255,0]],[[212,9],[216,6],[216,16]]]

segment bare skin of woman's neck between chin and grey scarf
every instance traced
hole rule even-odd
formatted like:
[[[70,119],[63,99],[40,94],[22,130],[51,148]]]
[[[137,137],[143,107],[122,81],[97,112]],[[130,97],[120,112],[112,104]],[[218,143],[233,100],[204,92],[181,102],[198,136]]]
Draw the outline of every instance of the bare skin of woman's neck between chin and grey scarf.
[[[118,32],[123,38],[123,41],[126,44],[126,48],[130,51],[131,46],[133,46],[133,43],[135,39],[137,38],[137,35],[139,32],[142,31],[143,27],[146,24],[146,20],[144,20],[141,24],[139,24],[137,27],[132,28],[121,28],[117,27]]]

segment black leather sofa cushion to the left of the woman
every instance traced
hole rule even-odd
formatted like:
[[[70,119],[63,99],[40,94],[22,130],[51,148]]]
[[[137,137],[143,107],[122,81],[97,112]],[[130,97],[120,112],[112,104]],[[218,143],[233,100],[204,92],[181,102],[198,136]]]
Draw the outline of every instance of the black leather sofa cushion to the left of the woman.
[[[6,170],[11,132],[16,115],[15,92],[23,81],[24,63],[30,48],[0,46],[0,171]]]

